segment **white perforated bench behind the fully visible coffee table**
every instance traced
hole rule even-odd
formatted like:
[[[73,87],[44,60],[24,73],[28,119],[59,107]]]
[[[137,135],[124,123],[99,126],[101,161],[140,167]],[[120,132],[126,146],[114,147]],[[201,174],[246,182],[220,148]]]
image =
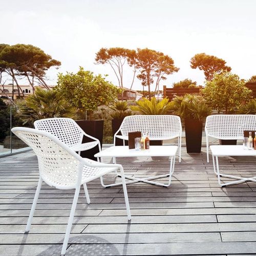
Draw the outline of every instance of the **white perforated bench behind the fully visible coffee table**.
[[[139,131],[147,134],[150,140],[169,140],[178,137],[179,162],[181,161],[181,134],[182,126],[179,116],[174,115],[134,115],[126,116],[118,131],[114,135],[114,145],[116,138],[128,140],[129,132]],[[121,132],[121,135],[118,133]]]

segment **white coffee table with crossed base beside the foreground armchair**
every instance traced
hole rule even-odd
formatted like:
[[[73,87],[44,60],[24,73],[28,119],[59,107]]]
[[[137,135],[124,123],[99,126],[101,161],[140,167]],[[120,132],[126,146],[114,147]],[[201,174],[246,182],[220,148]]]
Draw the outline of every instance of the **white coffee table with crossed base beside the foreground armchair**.
[[[125,175],[126,179],[131,180],[131,181],[127,181],[126,184],[144,182],[144,183],[150,183],[153,185],[168,187],[170,185],[170,182],[172,181],[172,174],[174,172],[175,156],[176,156],[177,150],[178,150],[178,146],[150,146],[149,150],[129,150],[128,146],[112,146],[112,147],[106,148],[106,150],[103,150],[95,154],[94,156],[97,157],[98,161],[100,161],[99,158],[101,157],[113,157],[114,163],[116,163],[117,157],[170,157],[170,168],[169,168],[168,174],[158,175],[158,176],[148,177],[143,179]],[[152,181],[155,179],[168,177],[168,176],[169,176],[169,181],[167,184]],[[104,187],[113,187],[113,186],[122,185],[122,183],[113,183],[113,184],[105,185],[103,183],[102,177],[100,180],[101,180],[101,185]]]

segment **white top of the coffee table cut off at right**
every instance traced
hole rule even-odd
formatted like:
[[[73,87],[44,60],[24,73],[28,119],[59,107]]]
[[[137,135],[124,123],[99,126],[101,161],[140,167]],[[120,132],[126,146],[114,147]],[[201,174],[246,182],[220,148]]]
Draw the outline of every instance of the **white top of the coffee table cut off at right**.
[[[243,145],[211,145],[214,156],[256,156],[256,150],[247,150]]]

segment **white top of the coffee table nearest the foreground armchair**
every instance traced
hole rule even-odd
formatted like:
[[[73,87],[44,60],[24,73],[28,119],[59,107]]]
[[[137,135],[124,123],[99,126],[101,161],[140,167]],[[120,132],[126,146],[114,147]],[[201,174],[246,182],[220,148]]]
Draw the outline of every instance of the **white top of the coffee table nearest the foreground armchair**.
[[[149,150],[129,150],[128,146],[111,146],[95,154],[95,157],[170,157],[178,146],[150,146]]]

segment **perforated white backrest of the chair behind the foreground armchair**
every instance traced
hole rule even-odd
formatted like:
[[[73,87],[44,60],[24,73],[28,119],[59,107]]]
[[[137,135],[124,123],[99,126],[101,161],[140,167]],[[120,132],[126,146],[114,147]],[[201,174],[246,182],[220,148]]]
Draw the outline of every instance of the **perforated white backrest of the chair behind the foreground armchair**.
[[[82,143],[82,130],[71,118],[40,119],[34,122],[34,126],[35,129],[53,134],[60,141],[69,146]]]

